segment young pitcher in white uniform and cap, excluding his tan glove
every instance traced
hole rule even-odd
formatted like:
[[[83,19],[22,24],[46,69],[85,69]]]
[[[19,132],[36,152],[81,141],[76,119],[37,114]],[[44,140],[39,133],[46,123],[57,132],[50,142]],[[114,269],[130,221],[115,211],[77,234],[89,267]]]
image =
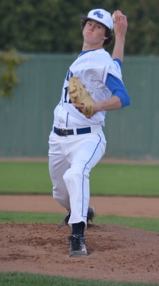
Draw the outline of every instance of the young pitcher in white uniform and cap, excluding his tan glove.
[[[109,12],[94,9],[82,17],[83,48],[70,66],[62,97],[54,110],[53,129],[49,137],[49,172],[53,197],[69,213],[66,217],[72,233],[69,256],[86,256],[84,231],[94,216],[89,207],[89,174],[105,154],[106,139],[102,130],[107,110],[121,109],[130,104],[122,81],[127,17],[115,11],[115,45],[112,58],[103,48],[112,40],[113,20]],[[69,97],[69,78],[81,79],[95,100],[93,115],[87,118],[83,104],[76,108]]]

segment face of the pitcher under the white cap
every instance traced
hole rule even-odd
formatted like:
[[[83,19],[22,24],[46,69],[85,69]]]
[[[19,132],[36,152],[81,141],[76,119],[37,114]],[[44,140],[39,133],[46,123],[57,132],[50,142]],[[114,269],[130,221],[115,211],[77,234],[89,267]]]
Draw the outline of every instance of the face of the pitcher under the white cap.
[[[84,29],[83,37],[84,42],[90,45],[102,45],[104,43],[106,28],[93,20],[88,20]]]

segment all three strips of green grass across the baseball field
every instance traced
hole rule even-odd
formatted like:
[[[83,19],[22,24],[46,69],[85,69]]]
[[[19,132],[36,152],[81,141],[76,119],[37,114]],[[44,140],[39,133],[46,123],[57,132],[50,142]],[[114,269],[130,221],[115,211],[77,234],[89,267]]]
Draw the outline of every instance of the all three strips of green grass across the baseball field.
[[[1,194],[50,194],[52,185],[46,162],[0,162]],[[159,166],[98,164],[91,172],[91,195],[159,196]],[[100,183],[99,183],[100,182]],[[0,222],[59,223],[62,214],[0,212]],[[96,216],[95,223],[117,224],[159,231],[159,219]],[[0,272],[0,286],[157,286],[153,283],[124,283],[70,279],[41,274]]]

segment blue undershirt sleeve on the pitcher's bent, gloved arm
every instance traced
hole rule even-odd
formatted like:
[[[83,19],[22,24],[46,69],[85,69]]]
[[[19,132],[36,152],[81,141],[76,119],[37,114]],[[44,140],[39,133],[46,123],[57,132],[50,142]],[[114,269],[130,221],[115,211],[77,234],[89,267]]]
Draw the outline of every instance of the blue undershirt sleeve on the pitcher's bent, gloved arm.
[[[122,107],[131,104],[130,96],[120,79],[108,73],[105,85],[113,95],[118,96],[121,99]]]

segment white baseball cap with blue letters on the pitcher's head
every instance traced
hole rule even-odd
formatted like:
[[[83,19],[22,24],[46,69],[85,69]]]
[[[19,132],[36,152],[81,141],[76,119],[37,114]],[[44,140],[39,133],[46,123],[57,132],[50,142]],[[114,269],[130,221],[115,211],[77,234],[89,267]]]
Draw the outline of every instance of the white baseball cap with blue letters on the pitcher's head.
[[[93,9],[87,16],[82,16],[81,19],[84,20],[94,20],[104,26],[107,26],[110,30],[113,29],[113,20],[111,14],[104,9]]]

